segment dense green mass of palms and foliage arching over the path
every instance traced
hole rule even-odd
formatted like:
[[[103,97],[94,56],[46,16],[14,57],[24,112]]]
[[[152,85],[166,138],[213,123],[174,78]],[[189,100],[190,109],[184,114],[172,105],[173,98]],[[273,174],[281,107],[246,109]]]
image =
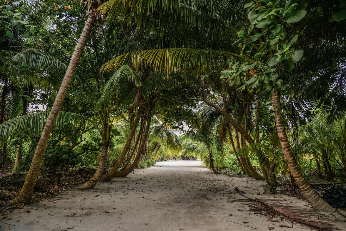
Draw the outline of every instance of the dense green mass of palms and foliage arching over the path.
[[[0,8],[0,164],[13,175],[97,168],[84,189],[201,158],[268,193],[276,175],[345,181],[344,0]]]

